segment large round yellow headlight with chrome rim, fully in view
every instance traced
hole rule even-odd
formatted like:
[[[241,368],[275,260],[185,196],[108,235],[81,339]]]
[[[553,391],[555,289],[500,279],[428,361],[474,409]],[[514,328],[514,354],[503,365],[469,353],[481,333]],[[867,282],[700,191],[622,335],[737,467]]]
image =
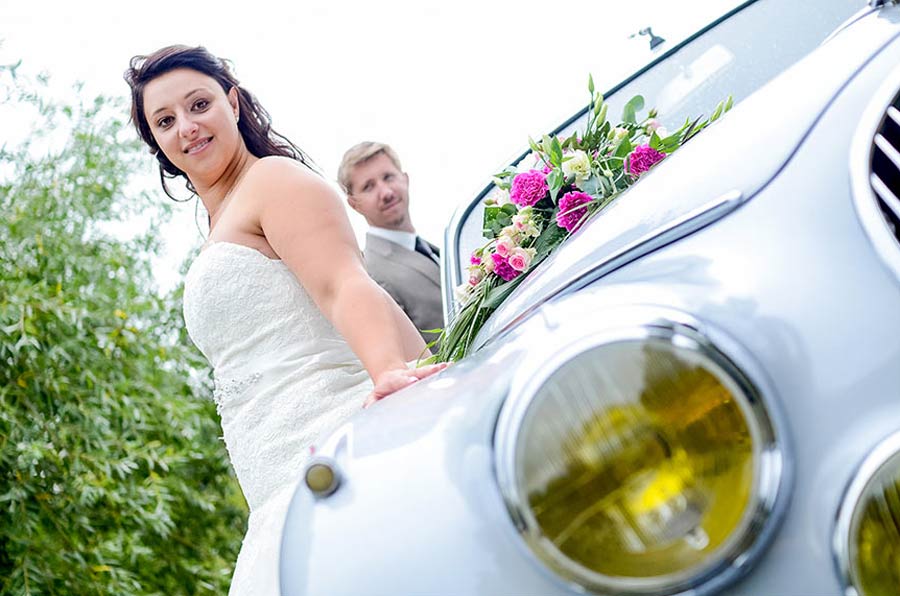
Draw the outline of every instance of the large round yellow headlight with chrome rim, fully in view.
[[[672,320],[568,344],[498,421],[498,481],[526,544],[598,592],[730,581],[765,542],[784,472],[757,385]]]

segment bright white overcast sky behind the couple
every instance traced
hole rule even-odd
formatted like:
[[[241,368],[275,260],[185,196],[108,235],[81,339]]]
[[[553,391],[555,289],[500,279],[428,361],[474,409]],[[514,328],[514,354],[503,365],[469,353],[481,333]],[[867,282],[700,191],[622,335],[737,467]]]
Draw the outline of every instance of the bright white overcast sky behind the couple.
[[[587,103],[588,73],[603,89],[649,57],[647,37],[630,34],[652,25],[675,39],[707,22],[709,10],[733,4],[0,0],[0,63],[22,59],[23,71],[47,72],[57,88],[82,81],[85,94],[124,96],[131,56],[205,45],[232,60],[275,129],[329,177],[349,146],[392,145],[410,176],[417,231],[442,244],[457,205],[520,153],[528,135],[549,132]],[[0,111],[0,142],[24,125]],[[163,287],[201,240],[193,213],[179,207],[165,231]],[[351,222],[361,236],[365,222],[352,212]]]

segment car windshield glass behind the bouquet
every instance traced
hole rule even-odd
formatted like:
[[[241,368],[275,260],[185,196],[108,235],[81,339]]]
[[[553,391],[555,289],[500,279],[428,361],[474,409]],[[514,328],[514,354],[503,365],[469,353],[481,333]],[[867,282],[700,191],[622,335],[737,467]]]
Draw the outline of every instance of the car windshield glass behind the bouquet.
[[[686,118],[708,114],[728,95],[740,102],[812,51],[862,5],[846,0],[818,2],[814,8],[805,2],[775,0],[738,4],[700,3],[707,18],[689,21],[694,33],[682,35],[674,47],[631,76],[610,74],[621,67],[605,69],[602,78],[595,72],[597,88],[606,91],[610,119],[617,119],[625,103],[637,94],[643,95],[646,107],[659,111],[658,119],[669,130],[677,129]],[[719,18],[710,19],[710,15]],[[655,35],[655,28],[653,32]],[[659,33],[664,34],[662,29]],[[642,37],[649,44],[650,36]],[[663,46],[668,47],[668,42]],[[622,82],[613,85],[612,81]],[[554,133],[568,136],[582,130],[586,118],[585,109]],[[485,242],[481,233],[483,202],[495,190],[489,185],[463,205],[447,229],[445,304],[452,304],[453,288],[463,280],[468,255]]]

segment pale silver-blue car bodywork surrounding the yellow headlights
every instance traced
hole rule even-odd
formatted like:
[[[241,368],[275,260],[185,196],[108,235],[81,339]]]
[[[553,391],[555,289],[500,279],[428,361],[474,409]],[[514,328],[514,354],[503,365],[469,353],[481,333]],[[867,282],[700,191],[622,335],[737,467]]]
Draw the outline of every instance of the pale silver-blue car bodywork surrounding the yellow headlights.
[[[521,540],[497,485],[495,425],[535,351],[634,308],[685,313],[739,346],[785,421],[790,502],[724,593],[842,594],[831,532],[843,490],[900,429],[900,281],[860,224],[848,167],[860,115],[897,72],[898,24],[892,7],[849,25],[574,237],[504,306],[502,333],[324,441],[317,454],[343,480],[327,498],[296,491],[282,594],[584,593]],[[753,142],[770,137],[777,148]],[[730,190],[751,200],[602,276],[584,273]]]

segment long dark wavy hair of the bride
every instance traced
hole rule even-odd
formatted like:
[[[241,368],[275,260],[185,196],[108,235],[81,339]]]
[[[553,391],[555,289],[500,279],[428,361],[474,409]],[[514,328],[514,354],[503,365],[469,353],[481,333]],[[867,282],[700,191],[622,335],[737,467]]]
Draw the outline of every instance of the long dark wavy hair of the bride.
[[[131,87],[131,122],[150,147],[150,153],[155,155],[159,161],[159,179],[163,190],[169,197],[175,199],[166,185],[167,178],[180,176],[185,179],[188,190],[191,192],[195,192],[195,190],[187,175],[169,161],[153,138],[150,125],[144,116],[144,88],[153,79],[176,68],[189,68],[212,77],[222,86],[225,93],[228,93],[232,87],[237,89],[241,113],[238,130],[250,153],[256,157],[268,155],[289,157],[296,159],[313,171],[316,170],[309,156],[287,137],[272,130],[272,119],[269,117],[269,113],[259,104],[252,93],[240,86],[237,78],[231,72],[228,61],[217,58],[203,46],[168,46],[147,56],[132,58],[128,70],[125,71],[125,81]]]

